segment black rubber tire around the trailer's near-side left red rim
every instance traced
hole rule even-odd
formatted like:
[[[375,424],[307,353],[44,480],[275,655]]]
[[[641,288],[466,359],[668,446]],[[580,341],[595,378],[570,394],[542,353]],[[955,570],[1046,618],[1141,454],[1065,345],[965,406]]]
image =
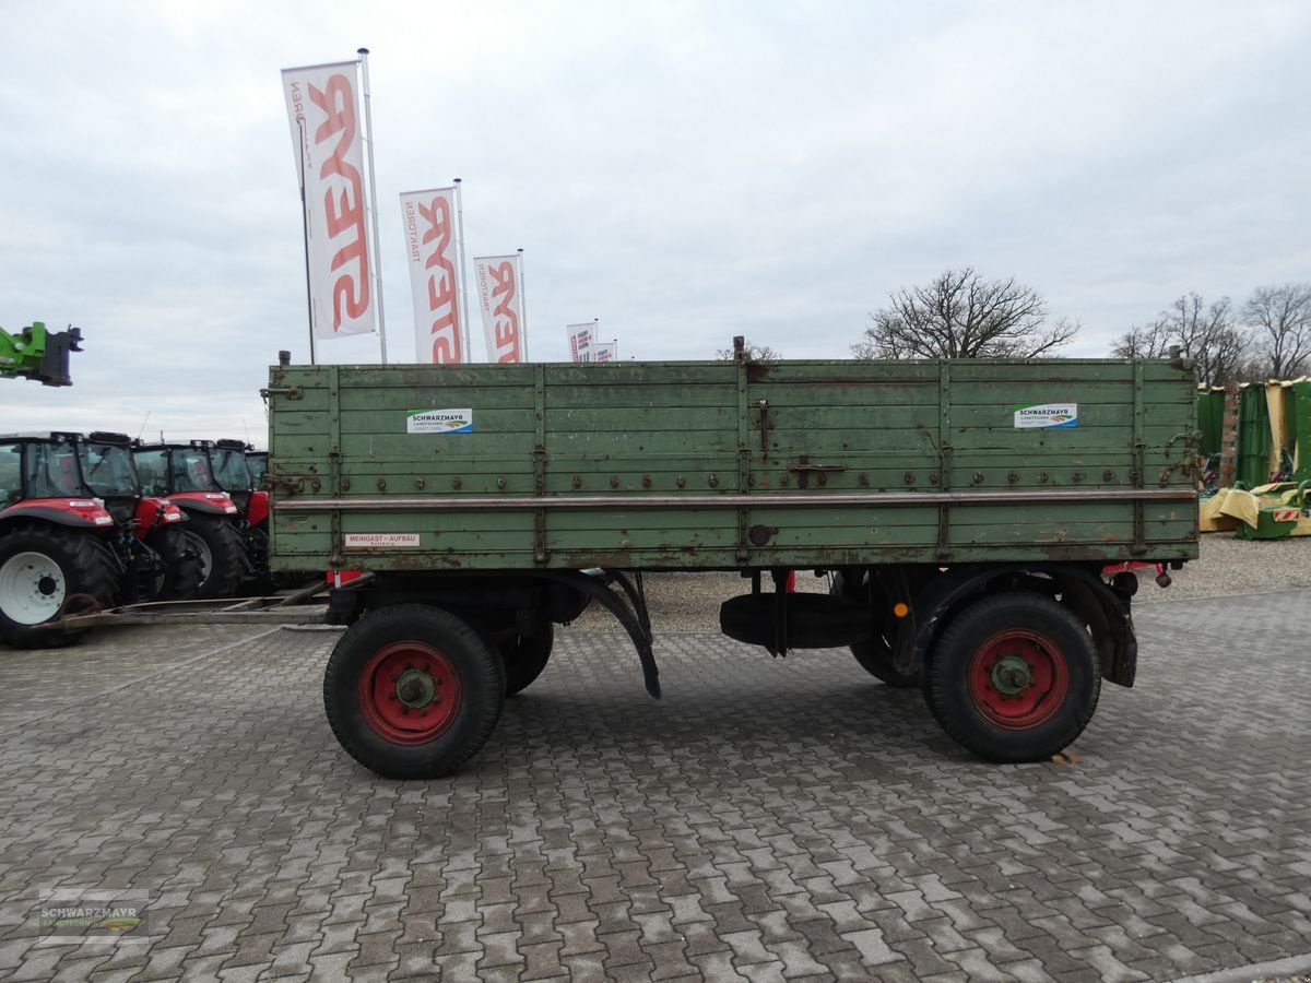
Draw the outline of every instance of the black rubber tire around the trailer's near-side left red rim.
[[[364,720],[359,678],[370,658],[395,642],[426,642],[460,678],[461,703],[451,726],[422,744],[385,739]],[[324,672],[324,710],[346,754],[384,779],[439,779],[486,743],[505,705],[501,657],[468,623],[429,604],[368,611],[342,634]]]

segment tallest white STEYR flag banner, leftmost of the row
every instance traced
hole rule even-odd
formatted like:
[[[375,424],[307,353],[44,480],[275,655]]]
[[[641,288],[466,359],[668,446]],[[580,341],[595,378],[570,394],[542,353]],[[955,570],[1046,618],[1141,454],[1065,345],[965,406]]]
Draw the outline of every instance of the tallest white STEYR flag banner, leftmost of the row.
[[[315,336],[374,330],[358,63],[284,68],[291,145],[305,189]]]

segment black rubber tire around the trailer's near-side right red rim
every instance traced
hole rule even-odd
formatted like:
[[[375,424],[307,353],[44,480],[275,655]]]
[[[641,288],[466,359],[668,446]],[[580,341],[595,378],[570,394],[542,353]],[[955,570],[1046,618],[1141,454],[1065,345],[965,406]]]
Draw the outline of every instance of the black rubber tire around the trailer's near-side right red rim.
[[[969,666],[999,632],[1034,632],[1063,661],[1065,697],[1045,721],[1007,729],[979,710],[970,695]],[[1101,671],[1092,637],[1079,619],[1050,598],[1027,591],[998,594],[970,604],[952,619],[929,654],[924,699],[957,743],[988,761],[1038,761],[1063,751],[1097,709]]]

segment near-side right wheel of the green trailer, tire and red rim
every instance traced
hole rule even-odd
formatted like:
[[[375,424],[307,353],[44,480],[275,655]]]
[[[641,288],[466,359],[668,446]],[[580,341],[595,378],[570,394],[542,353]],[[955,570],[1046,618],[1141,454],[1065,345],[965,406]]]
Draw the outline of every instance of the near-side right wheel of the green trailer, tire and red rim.
[[[933,649],[929,709],[952,738],[990,761],[1037,761],[1065,750],[1092,720],[1097,653],[1067,608],[1037,594],[978,600]]]

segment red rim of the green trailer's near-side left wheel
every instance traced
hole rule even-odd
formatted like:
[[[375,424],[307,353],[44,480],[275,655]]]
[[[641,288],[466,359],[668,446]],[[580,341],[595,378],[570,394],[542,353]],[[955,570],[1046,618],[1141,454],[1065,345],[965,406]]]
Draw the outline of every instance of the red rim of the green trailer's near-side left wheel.
[[[422,744],[455,722],[460,675],[431,645],[393,642],[374,653],[359,674],[359,709],[384,741]]]

